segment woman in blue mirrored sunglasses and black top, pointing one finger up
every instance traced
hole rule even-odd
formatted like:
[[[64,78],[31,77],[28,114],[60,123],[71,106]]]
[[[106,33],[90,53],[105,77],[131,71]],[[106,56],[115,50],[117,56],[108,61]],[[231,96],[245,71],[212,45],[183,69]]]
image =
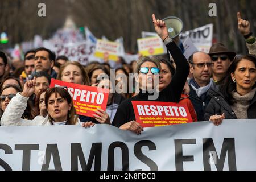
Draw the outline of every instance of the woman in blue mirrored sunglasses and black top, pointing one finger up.
[[[162,38],[164,44],[168,51],[170,51],[175,64],[176,73],[172,78],[170,84],[163,89],[160,93],[150,93],[152,89],[156,89],[157,84],[153,84],[155,80],[159,80],[159,73],[161,70],[160,61],[155,57],[141,57],[137,61],[135,68],[135,80],[139,85],[139,94],[135,97],[129,98],[118,107],[117,114],[115,115],[113,126],[119,127],[122,130],[130,130],[134,133],[141,134],[143,128],[135,121],[134,109],[131,101],[162,101],[162,102],[179,102],[181,93],[187,77],[189,74],[189,64],[187,59],[185,59],[183,53],[180,51],[179,47],[172,41],[168,36],[168,30],[165,22],[162,20],[156,20],[155,15],[152,15],[153,22],[155,25],[155,30]],[[151,90],[148,88],[152,88]],[[154,98],[154,95],[158,97]]]

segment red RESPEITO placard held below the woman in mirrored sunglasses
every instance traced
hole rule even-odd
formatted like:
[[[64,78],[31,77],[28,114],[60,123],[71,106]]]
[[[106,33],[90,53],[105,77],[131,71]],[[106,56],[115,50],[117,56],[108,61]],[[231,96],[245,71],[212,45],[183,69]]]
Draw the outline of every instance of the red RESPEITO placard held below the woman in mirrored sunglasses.
[[[131,101],[136,121],[142,127],[191,123],[187,105],[171,102]]]

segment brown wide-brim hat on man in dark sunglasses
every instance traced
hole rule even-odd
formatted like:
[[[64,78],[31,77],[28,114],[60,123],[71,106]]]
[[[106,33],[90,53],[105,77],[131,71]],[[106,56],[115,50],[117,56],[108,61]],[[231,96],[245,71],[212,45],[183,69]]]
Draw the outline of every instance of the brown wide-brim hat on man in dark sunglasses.
[[[209,55],[221,55],[225,54],[228,55],[230,61],[233,61],[236,57],[237,53],[233,51],[229,51],[228,48],[222,43],[214,43],[212,47],[210,47]]]

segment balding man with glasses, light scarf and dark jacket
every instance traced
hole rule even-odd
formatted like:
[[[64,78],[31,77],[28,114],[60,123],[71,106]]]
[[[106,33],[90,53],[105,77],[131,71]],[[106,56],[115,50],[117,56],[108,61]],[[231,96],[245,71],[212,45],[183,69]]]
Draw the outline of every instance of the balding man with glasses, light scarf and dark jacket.
[[[196,110],[198,121],[204,121],[204,113],[210,102],[209,90],[213,86],[210,81],[213,62],[204,52],[195,52],[189,57],[190,72],[193,78],[188,80],[189,98]]]

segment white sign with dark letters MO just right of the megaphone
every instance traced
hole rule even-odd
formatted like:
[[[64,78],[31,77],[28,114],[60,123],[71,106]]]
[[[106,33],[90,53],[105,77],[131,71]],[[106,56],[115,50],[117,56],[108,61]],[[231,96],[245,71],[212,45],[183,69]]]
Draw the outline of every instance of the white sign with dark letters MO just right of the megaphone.
[[[180,39],[184,40],[190,36],[192,43],[199,51],[209,53],[212,46],[213,24],[207,24],[203,27],[195,28],[180,34]]]

